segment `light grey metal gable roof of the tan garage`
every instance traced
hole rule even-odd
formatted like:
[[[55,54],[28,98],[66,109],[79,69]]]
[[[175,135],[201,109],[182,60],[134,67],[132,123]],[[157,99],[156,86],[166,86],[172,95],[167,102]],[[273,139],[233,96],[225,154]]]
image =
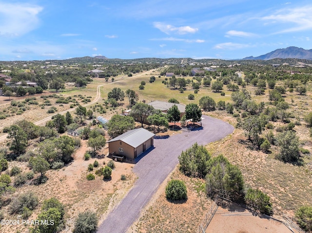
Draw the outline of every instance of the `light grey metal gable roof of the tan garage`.
[[[140,144],[146,142],[147,140],[153,138],[154,136],[155,136],[154,133],[151,133],[150,131],[144,128],[137,128],[129,130],[128,132],[121,134],[116,138],[113,138],[112,140],[108,141],[108,143],[120,140],[121,142],[127,143],[128,145],[137,148]]]

